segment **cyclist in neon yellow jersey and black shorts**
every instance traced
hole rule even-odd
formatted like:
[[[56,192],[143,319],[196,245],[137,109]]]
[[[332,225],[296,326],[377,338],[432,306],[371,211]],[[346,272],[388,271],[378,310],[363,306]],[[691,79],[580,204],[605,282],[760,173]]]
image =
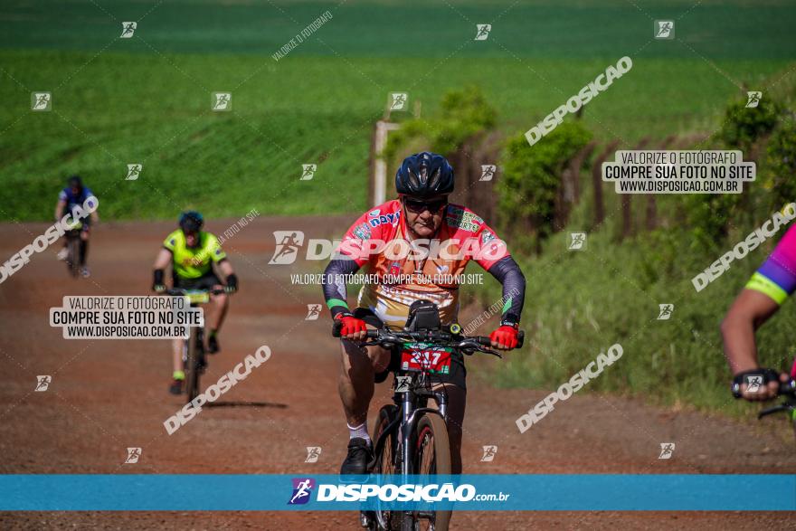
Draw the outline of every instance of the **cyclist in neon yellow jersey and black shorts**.
[[[207,352],[215,354],[221,350],[218,333],[229,308],[228,293],[238,289],[238,277],[232,264],[221,248],[218,238],[211,232],[204,232],[204,217],[201,213],[188,211],[179,218],[179,228],[166,236],[163,248],[157,255],[153,271],[152,289],[156,293],[166,292],[166,268],[171,264],[172,280],[175,289],[223,289],[224,293],[211,293],[213,309],[210,317],[205,317],[210,333],[207,335]],[[213,270],[213,264],[223,274],[222,282]],[[182,393],[185,371],[182,356],[183,341],[175,339],[173,346],[174,372],[169,391]]]

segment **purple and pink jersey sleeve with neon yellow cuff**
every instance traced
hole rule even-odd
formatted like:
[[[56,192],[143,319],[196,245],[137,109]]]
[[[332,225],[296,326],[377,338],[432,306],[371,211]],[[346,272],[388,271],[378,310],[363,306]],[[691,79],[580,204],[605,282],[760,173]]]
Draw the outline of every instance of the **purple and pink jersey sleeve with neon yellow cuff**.
[[[746,289],[760,291],[782,304],[796,291],[796,225],[782,240],[746,284]]]

